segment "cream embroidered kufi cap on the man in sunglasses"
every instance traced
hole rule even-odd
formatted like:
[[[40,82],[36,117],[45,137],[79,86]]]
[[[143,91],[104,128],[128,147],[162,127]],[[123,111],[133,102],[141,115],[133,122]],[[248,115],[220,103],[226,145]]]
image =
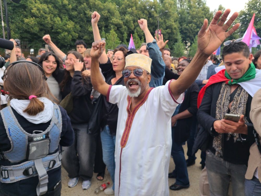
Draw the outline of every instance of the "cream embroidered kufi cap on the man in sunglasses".
[[[146,70],[147,72],[151,72],[151,61],[150,57],[147,57],[143,54],[130,54],[125,58],[125,69],[128,66],[138,66]]]

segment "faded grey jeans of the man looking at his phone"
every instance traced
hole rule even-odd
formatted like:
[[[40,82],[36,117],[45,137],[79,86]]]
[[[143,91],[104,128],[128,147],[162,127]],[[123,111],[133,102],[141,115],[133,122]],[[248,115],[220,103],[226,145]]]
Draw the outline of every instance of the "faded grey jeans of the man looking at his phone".
[[[233,195],[245,196],[246,165],[236,165],[224,160],[217,160],[212,152],[207,151],[206,169],[211,196],[228,195],[230,180]]]

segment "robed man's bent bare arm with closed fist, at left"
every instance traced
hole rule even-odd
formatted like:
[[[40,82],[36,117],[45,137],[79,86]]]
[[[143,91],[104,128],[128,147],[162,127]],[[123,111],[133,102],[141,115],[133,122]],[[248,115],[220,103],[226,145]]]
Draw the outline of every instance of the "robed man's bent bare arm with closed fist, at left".
[[[92,43],[91,49],[91,82],[92,86],[95,90],[97,90],[100,94],[107,96],[110,85],[107,84],[99,70],[99,57],[102,55],[105,49],[105,42],[103,41],[95,41]]]

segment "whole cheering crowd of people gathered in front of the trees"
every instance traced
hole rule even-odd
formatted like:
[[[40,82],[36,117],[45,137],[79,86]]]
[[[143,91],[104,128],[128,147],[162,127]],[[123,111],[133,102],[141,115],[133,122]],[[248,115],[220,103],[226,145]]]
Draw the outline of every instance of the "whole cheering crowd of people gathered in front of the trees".
[[[238,16],[225,23],[229,12],[204,20],[193,58],[171,54],[146,19],[139,49],[108,49],[96,11],[91,48],[78,40],[64,53],[46,34],[49,50],[25,58],[10,39],[0,69],[0,195],[60,195],[61,165],[70,188],[79,178],[90,188],[107,168],[107,195],[169,195],[189,187],[198,149],[200,195],[227,195],[229,185],[233,195],[260,195],[261,50],[224,42],[239,27],[228,30]]]

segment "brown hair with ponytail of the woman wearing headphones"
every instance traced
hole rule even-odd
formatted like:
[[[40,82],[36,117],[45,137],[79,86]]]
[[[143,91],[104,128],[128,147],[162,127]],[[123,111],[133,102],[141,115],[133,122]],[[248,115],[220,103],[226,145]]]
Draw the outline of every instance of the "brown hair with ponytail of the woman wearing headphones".
[[[49,98],[48,94],[51,94],[40,68],[26,62],[8,67],[4,77],[4,90],[9,92],[10,100],[29,100],[30,95]],[[34,116],[43,110],[44,103],[32,98],[23,112]]]

